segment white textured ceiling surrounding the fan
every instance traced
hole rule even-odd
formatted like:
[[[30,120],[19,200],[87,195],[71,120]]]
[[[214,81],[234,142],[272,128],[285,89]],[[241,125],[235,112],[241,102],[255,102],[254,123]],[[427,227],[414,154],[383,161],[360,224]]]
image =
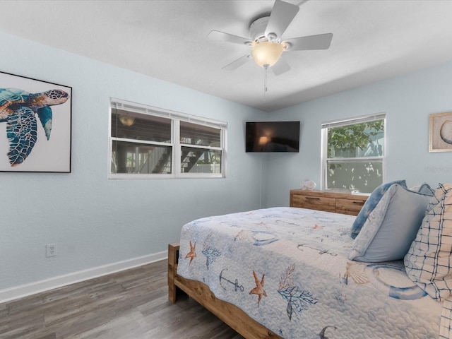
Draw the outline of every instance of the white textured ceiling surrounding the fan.
[[[249,47],[207,35],[248,38],[273,0],[4,0],[0,30],[268,112],[452,60],[452,1],[287,2],[300,10],[283,38],[332,32],[333,41],[285,52],[292,69],[268,73],[265,97],[254,62],[222,69]]]

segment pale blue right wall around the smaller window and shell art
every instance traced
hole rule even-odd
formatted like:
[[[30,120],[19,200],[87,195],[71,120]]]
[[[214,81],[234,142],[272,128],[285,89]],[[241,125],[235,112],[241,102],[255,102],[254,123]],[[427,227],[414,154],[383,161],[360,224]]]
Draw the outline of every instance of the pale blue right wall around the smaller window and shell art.
[[[302,130],[298,154],[268,158],[267,206],[287,206],[289,190],[304,179],[319,187],[322,122],[379,112],[386,112],[386,182],[451,182],[452,153],[429,153],[429,114],[452,112],[449,62],[272,112],[272,119],[299,119]]]

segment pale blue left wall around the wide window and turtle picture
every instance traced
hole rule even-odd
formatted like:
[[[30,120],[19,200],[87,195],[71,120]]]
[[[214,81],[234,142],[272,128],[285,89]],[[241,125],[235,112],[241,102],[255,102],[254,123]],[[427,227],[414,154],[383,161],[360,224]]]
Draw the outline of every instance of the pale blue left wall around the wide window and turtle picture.
[[[72,172],[0,173],[0,290],[165,251],[185,222],[261,207],[244,121],[263,112],[11,35],[0,44],[0,71],[73,89]],[[227,177],[108,180],[109,97],[227,121]]]

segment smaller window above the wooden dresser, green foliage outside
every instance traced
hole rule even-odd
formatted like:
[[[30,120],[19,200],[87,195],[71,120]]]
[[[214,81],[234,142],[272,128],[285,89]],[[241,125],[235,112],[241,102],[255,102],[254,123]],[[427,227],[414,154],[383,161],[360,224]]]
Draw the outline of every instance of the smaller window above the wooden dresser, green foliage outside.
[[[386,114],[322,124],[323,189],[371,193],[384,182]]]

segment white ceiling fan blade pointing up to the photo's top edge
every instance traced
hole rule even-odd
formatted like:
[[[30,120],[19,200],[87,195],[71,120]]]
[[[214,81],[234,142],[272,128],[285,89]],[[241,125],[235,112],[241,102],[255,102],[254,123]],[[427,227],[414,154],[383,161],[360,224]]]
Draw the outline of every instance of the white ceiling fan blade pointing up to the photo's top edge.
[[[275,0],[273,9],[268,19],[265,35],[276,35],[275,38],[281,38],[287,27],[299,11],[299,6],[289,4],[281,0]]]

